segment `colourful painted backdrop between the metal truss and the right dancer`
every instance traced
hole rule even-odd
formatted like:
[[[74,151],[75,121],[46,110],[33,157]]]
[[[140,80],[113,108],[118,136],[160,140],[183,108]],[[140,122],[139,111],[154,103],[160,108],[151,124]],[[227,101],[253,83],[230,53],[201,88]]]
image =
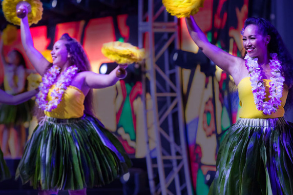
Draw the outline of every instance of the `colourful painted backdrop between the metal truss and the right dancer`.
[[[241,30],[248,0],[206,0],[194,16],[209,41],[241,56]],[[181,49],[198,52],[181,20]],[[227,129],[237,119],[239,99],[230,76],[214,65],[183,70],[183,93],[194,193],[207,195],[216,171],[216,156]],[[214,69],[214,71],[212,71]]]

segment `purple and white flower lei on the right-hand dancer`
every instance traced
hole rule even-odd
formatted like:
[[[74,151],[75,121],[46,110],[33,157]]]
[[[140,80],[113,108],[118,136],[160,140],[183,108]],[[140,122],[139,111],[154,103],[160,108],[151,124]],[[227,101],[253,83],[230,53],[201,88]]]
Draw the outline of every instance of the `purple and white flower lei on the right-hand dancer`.
[[[278,106],[281,105],[283,85],[285,78],[281,74],[281,63],[277,58],[277,54],[270,54],[272,59],[270,59],[271,68],[271,82],[270,82],[270,100],[265,101],[266,88],[264,81],[261,76],[261,70],[257,63],[257,58],[251,59],[248,54],[245,56],[245,66],[248,70],[252,93],[254,97],[254,103],[259,111],[263,111],[265,115],[271,115],[277,111]]]

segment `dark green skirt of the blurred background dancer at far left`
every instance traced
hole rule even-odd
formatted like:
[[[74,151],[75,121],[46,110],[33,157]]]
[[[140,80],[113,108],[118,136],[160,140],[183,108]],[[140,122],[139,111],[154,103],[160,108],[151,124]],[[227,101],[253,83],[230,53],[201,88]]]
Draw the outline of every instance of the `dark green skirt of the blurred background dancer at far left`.
[[[0,104],[0,124],[21,125],[32,119],[33,100],[18,105]]]

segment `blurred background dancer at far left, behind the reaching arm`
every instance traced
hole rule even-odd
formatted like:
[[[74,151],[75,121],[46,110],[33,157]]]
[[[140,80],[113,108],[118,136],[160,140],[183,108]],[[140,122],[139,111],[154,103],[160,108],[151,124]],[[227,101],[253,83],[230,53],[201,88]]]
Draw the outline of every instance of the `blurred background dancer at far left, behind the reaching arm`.
[[[26,78],[29,70],[25,67],[25,61],[21,53],[13,49],[5,60],[3,54],[3,39],[0,40],[0,58],[4,68],[4,90],[11,95],[17,95],[26,90]],[[31,111],[33,100],[19,105],[0,105],[0,124],[4,124],[1,148],[4,156],[20,158],[26,140],[24,123],[32,118]],[[9,140],[15,141],[9,141]]]

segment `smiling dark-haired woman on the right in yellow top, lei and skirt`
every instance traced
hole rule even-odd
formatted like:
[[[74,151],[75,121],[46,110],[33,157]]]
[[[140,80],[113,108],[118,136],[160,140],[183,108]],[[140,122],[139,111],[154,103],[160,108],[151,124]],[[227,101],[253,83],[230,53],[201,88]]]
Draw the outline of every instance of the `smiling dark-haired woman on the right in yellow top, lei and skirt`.
[[[293,126],[283,116],[293,60],[277,30],[267,20],[247,19],[242,59],[209,43],[192,16],[186,22],[203,53],[233,77],[241,105],[220,145],[209,195],[292,195]]]

